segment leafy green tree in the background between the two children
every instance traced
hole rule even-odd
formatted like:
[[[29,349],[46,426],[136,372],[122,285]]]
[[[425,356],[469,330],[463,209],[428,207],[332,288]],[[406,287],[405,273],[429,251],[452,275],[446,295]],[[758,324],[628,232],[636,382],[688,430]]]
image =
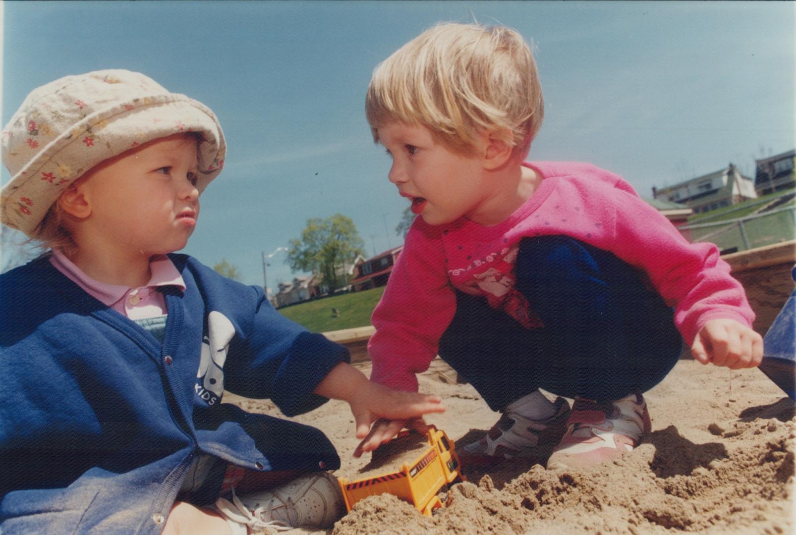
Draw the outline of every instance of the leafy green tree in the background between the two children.
[[[322,275],[329,291],[348,283],[343,267],[357,255],[364,254],[365,242],[359,237],[357,227],[341,213],[321,219],[306,221],[301,239],[288,242],[287,259],[293,271],[313,271]]]

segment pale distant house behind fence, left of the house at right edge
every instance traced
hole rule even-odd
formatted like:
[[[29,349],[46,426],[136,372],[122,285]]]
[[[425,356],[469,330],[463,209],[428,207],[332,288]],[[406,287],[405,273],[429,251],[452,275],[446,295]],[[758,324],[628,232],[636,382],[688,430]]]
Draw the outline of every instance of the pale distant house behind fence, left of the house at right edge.
[[[687,205],[694,213],[736,205],[757,197],[755,181],[744,177],[732,163],[725,169],[665,188],[652,189],[658,201]]]

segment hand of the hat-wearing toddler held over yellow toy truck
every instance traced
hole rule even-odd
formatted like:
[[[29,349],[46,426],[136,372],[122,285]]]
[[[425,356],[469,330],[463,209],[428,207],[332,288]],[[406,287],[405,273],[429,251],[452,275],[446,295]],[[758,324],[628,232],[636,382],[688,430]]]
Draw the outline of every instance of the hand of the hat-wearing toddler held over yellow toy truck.
[[[439,396],[392,390],[368,381],[368,387],[349,400],[357,425],[357,439],[363,439],[354,451],[354,456],[373,451],[381,443],[392,439],[404,425],[411,425],[418,432],[426,432],[427,426],[420,416],[429,412],[444,412],[445,406],[441,402]],[[374,422],[376,424],[371,429],[370,425]]]

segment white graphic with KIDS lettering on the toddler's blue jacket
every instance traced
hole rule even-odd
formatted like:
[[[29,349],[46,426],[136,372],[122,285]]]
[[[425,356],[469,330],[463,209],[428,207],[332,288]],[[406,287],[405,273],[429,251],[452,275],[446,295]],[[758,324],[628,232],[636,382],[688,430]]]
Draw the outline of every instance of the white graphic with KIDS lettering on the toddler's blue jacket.
[[[213,310],[207,316],[207,336],[201,344],[201,361],[194,389],[207,404],[217,404],[224,393],[224,361],[235,327],[228,318]]]

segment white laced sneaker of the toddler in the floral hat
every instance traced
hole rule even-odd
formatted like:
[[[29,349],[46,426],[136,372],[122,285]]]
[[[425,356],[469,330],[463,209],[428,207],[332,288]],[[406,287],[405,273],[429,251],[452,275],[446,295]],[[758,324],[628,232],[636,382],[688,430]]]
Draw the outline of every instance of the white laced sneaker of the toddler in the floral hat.
[[[252,529],[326,528],[345,514],[338,478],[328,472],[302,475],[242,498],[233,488],[232,502],[218,498],[215,505],[224,517]]]

